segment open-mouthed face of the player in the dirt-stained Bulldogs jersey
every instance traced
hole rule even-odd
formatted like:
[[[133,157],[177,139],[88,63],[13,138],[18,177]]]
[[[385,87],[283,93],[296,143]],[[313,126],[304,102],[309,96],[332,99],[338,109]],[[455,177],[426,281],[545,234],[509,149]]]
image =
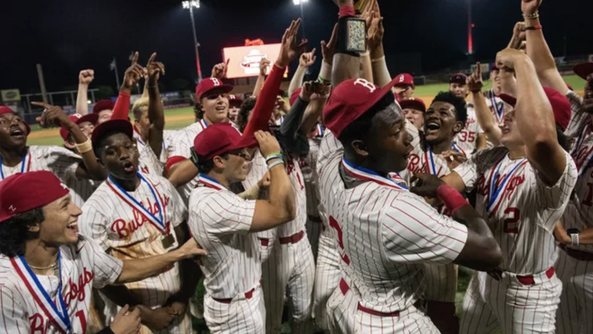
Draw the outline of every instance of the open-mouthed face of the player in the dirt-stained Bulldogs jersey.
[[[119,179],[136,178],[139,156],[136,140],[125,133],[107,134],[99,144],[99,163],[109,174]]]

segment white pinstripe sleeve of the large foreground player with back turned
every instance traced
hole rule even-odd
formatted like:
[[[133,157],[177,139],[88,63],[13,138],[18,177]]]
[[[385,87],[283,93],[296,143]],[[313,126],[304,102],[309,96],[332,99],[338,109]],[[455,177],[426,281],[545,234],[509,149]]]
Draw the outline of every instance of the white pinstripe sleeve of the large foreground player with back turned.
[[[466,245],[467,227],[416,195],[392,197],[384,215],[382,243],[392,262],[449,264]]]

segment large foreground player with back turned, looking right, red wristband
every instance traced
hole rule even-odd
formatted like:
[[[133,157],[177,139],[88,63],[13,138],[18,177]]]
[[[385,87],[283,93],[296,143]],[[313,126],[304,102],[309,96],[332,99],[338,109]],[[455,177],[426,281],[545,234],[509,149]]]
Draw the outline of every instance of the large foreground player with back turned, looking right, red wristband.
[[[342,269],[327,306],[332,333],[438,333],[420,300],[424,263],[482,269],[499,263],[486,223],[463,197],[456,194],[448,205],[470,229],[438,214],[401,179],[388,177],[406,168],[413,149],[391,92],[396,82],[381,89],[364,79],[346,80],[323,112],[331,132],[317,163],[321,204]],[[436,182],[451,192],[436,177],[420,177],[425,187]]]

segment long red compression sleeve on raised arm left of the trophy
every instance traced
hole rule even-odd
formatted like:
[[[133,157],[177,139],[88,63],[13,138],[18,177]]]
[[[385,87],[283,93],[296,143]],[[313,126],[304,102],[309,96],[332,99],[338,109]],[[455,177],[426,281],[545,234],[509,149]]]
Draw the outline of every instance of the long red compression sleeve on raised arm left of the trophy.
[[[247,123],[245,131],[243,131],[243,137],[250,137],[258,130],[266,131],[268,129],[268,122],[274,111],[276,96],[278,95],[278,89],[280,89],[280,83],[282,83],[284,70],[276,65],[272,66],[270,75],[257,97],[253,111],[251,111],[251,119]]]

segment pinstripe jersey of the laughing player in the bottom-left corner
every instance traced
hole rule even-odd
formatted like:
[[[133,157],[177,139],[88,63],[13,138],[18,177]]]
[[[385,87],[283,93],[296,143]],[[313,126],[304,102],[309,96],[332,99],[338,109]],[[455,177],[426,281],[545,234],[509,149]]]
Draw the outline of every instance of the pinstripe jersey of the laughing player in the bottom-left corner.
[[[89,320],[91,288],[103,288],[117,280],[122,261],[107,255],[93,240],[79,235],[72,246],[60,247],[62,257],[62,296],[68,309],[74,333],[85,333]],[[58,277],[37,275],[40,284],[53,301],[58,296]],[[31,282],[33,284],[33,282]],[[43,298],[43,297],[42,297]],[[46,313],[33,299],[9,258],[0,256],[0,333],[57,334]]]

